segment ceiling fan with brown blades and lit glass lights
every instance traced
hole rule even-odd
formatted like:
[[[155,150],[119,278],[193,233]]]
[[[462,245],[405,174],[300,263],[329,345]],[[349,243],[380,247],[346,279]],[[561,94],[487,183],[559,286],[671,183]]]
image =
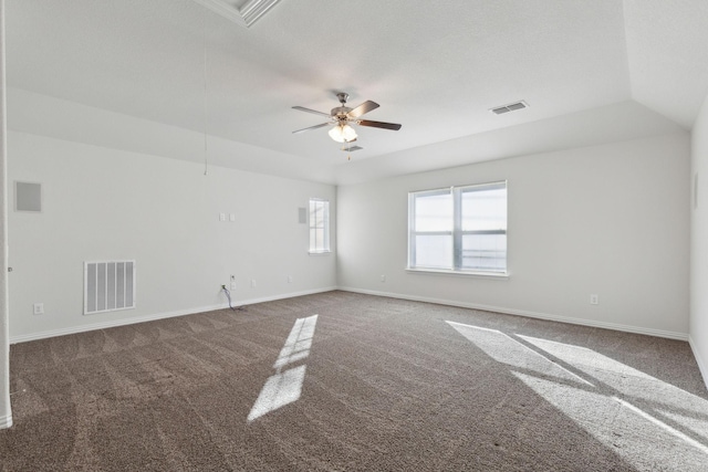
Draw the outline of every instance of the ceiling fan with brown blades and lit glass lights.
[[[308,128],[298,129],[292,132],[293,134],[309,132],[311,129],[317,129],[323,126],[334,125],[332,129],[330,129],[330,137],[337,143],[353,143],[356,140],[356,132],[351,125],[360,125],[360,126],[371,126],[373,128],[382,128],[382,129],[392,129],[397,132],[400,129],[400,125],[395,123],[384,123],[384,122],[372,122],[371,119],[360,119],[360,116],[365,113],[371,112],[372,109],[378,108],[378,104],[376,102],[372,102],[367,99],[363,104],[358,105],[355,108],[350,108],[346,106],[346,99],[350,97],[347,93],[340,92],[336,94],[336,97],[340,101],[340,106],[332,108],[332,111],[326,114],[323,112],[317,112],[314,109],[305,108],[303,106],[293,106],[294,109],[299,109],[301,112],[314,113],[315,115],[326,116],[330,120],[326,123],[322,123],[320,125],[310,126]]]

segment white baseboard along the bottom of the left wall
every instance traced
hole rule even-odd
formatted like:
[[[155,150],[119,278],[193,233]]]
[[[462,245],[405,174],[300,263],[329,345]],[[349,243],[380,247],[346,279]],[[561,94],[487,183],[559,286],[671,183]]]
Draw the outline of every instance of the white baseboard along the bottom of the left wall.
[[[291,292],[291,293],[280,294],[280,295],[263,296],[260,298],[239,300],[235,302],[235,306],[236,305],[237,306],[254,305],[257,303],[272,302],[275,300],[292,298],[295,296],[312,295],[314,293],[322,293],[322,292],[331,292],[333,290],[336,290],[336,287],[331,286],[331,287],[315,289],[315,290],[309,290],[303,292]],[[24,334],[19,336],[10,336],[10,344],[27,343],[30,340],[38,340],[38,339],[46,339],[49,337],[65,336],[69,334],[84,333],[84,332],[90,332],[95,329],[107,329],[107,328],[113,328],[117,326],[133,325],[136,323],[154,322],[157,319],[171,318],[175,316],[194,315],[195,313],[211,312],[215,310],[225,310],[228,307],[229,307],[228,303],[219,304],[219,305],[210,305],[210,306],[199,306],[199,307],[187,308],[187,310],[177,310],[174,312],[155,313],[155,314],[145,315],[145,316],[134,316],[132,318],[113,319],[110,322],[92,323],[87,325],[70,326],[70,327],[60,328],[60,329],[30,333],[30,334]]]

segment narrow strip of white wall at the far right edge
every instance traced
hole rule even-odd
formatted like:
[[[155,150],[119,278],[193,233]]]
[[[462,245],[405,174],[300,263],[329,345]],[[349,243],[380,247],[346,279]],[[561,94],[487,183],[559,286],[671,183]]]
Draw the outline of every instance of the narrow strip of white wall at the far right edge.
[[[690,345],[708,385],[708,97],[691,133]],[[696,177],[698,176],[698,177]]]

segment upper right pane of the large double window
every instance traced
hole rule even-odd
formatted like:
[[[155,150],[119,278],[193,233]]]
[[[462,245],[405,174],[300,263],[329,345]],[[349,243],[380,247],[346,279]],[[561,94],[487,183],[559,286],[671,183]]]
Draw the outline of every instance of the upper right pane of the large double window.
[[[506,188],[462,191],[462,231],[506,229]]]

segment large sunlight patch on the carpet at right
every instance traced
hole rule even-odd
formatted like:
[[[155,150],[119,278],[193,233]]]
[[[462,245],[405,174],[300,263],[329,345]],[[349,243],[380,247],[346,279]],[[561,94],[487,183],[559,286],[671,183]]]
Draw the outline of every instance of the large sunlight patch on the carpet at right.
[[[705,470],[705,399],[585,347],[447,323],[628,462]]]

